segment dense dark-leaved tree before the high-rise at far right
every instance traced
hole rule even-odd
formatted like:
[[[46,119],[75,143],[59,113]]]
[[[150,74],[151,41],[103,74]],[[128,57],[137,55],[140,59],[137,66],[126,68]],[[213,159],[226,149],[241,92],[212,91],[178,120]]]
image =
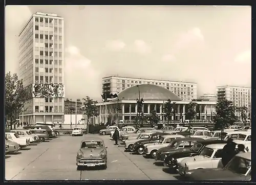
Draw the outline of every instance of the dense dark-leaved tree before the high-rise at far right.
[[[237,122],[235,110],[236,106],[233,105],[232,101],[226,99],[218,100],[215,106],[215,128],[222,129],[223,126],[233,125],[234,122]]]

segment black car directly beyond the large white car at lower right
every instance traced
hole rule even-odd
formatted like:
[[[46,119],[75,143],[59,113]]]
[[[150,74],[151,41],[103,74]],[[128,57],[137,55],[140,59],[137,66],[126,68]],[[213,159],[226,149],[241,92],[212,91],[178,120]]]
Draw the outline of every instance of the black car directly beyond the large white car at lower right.
[[[184,158],[197,156],[200,154],[201,150],[211,144],[227,144],[227,141],[222,140],[205,140],[205,141],[197,141],[193,147],[188,148],[187,150],[176,151],[164,156],[164,166],[170,168],[171,170],[177,170],[178,162],[183,160]]]

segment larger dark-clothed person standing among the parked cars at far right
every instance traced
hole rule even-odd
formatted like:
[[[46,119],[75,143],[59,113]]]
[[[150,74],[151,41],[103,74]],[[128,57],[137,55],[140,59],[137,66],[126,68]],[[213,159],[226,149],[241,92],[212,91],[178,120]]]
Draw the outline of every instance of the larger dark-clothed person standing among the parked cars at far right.
[[[227,140],[227,144],[222,149],[221,162],[223,167],[225,167],[228,162],[237,154],[236,143],[233,142],[232,138]]]

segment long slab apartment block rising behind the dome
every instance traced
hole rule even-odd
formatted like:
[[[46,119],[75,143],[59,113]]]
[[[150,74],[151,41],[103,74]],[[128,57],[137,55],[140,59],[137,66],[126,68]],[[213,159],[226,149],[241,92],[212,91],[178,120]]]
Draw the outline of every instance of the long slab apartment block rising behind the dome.
[[[197,83],[176,82],[168,80],[153,80],[142,78],[127,78],[110,76],[102,78],[103,94],[118,94],[120,91],[140,84],[153,84],[164,87],[176,94],[184,101],[197,99]]]

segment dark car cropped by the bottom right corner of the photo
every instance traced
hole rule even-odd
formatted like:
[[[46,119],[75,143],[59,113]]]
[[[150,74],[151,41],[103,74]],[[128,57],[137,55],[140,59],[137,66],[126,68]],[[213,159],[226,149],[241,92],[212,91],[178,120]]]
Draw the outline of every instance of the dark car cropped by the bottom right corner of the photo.
[[[239,153],[224,168],[188,170],[186,180],[251,180],[251,153]]]

